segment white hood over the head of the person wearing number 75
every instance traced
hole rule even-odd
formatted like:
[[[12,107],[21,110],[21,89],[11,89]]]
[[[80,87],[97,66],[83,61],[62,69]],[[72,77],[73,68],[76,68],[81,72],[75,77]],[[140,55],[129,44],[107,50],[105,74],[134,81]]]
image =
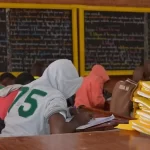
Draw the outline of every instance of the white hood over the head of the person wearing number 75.
[[[41,80],[60,91],[66,99],[73,96],[82,84],[82,77],[72,62],[67,59],[60,59],[51,63],[44,71]],[[44,82],[44,81],[43,81]]]

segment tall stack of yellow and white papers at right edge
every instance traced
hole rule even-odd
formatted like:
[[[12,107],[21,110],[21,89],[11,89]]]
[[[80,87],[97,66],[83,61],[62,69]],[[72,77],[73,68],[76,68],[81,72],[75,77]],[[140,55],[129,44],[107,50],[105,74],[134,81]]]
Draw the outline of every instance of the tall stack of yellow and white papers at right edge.
[[[150,81],[141,81],[134,92],[134,116],[132,128],[150,134]]]

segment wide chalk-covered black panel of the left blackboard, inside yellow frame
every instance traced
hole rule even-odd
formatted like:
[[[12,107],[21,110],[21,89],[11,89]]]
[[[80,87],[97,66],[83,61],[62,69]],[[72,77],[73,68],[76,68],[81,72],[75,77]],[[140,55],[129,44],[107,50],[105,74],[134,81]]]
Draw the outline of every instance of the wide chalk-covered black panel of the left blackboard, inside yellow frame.
[[[72,60],[71,16],[71,10],[10,9],[12,71],[28,70],[35,61]]]

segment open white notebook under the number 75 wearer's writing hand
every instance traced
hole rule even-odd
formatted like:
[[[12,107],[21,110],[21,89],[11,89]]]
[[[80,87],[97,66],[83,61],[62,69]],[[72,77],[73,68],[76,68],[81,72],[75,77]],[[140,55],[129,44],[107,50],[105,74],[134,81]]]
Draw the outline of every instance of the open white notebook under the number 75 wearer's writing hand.
[[[69,122],[71,121],[72,118],[68,118],[66,121]],[[95,118],[92,119],[90,122],[88,122],[88,124],[83,125],[78,127],[76,130],[83,130],[83,129],[87,129],[105,122],[109,122],[111,120],[115,119],[114,115],[111,115],[110,117],[103,117],[103,118]]]

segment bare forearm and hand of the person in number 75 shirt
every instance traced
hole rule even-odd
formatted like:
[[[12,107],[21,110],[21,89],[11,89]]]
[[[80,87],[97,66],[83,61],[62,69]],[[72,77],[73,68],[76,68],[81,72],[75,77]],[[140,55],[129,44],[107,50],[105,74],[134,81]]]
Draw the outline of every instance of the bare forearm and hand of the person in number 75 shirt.
[[[51,134],[72,133],[76,128],[87,124],[91,119],[88,112],[81,112],[70,122],[66,122],[63,115],[56,113],[49,117],[49,127]]]

